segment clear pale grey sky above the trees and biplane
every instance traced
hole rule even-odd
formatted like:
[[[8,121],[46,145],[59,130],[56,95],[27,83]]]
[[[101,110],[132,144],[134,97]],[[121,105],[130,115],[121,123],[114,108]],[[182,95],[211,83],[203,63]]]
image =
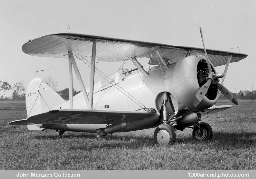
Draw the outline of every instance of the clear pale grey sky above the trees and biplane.
[[[30,56],[21,50],[29,39],[68,33],[241,52],[247,58],[231,63],[224,86],[232,92],[256,89],[255,0],[0,0],[0,81],[26,87],[37,76],[52,77],[58,90],[68,88],[68,60]],[[237,48],[239,47],[239,48]],[[228,50],[230,48],[234,48]],[[147,67],[145,60],[140,61]],[[85,86],[90,69],[77,62]],[[96,63],[109,75],[121,63]],[[134,68],[127,62],[124,68]],[[225,66],[216,68],[223,72]],[[95,80],[101,77],[96,74]],[[74,88],[80,90],[74,78]],[[0,92],[3,95],[3,92]],[[12,90],[6,93],[11,96]]]

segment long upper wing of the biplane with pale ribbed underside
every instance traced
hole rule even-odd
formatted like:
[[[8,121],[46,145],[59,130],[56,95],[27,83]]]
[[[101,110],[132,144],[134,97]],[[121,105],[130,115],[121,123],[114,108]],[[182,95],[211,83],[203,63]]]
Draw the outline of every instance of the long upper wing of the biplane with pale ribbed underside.
[[[186,55],[204,54],[204,49],[202,48],[172,46],[72,33],[46,35],[29,40],[29,42],[22,46],[22,50],[29,55],[56,58],[68,58],[68,51],[73,50],[75,58],[90,59],[92,42],[95,40],[97,41],[96,59],[98,61],[117,62],[123,61],[129,56],[150,58],[152,55],[151,63],[159,65],[154,51],[155,48],[160,51],[163,59],[169,59],[173,63]],[[230,55],[232,55],[230,63],[247,57],[246,54],[218,50],[207,50],[207,54],[214,66],[225,65]]]

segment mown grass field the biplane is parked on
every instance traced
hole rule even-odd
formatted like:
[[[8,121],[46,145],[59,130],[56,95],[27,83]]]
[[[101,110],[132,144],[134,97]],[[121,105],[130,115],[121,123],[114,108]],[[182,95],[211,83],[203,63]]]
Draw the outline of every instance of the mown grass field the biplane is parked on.
[[[231,104],[226,100],[217,105]],[[26,118],[25,102],[0,101],[1,170],[256,170],[256,101],[204,116],[213,139],[196,142],[192,129],[177,143],[155,145],[155,129],[96,134],[28,131],[8,122]]]

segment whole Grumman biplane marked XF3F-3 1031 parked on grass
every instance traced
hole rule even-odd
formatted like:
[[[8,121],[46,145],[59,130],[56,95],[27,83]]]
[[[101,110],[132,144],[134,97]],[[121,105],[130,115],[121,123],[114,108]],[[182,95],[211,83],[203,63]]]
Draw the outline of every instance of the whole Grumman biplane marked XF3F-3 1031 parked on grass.
[[[201,37],[204,46],[202,31]],[[193,128],[195,140],[211,140],[213,131],[201,116],[232,107],[215,106],[221,92],[238,105],[223,80],[232,62],[246,54],[172,46],[72,33],[46,35],[22,46],[29,55],[56,57],[69,64],[69,101],[42,79],[33,79],[26,92],[27,118],[10,125],[27,125],[29,130],[94,132],[98,136],[156,128],[154,140],[173,144],[175,130]],[[144,69],[138,59],[147,58]],[[90,84],[85,88],[76,61],[90,66]],[[134,69],[120,69],[106,76],[95,62],[131,60]],[[123,63],[123,64],[124,64]],[[225,65],[223,73],[215,66]],[[151,66],[154,65],[154,66]],[[73,97],[73,70],[82,92]],[[95,72],[102,80],[94,84]]]

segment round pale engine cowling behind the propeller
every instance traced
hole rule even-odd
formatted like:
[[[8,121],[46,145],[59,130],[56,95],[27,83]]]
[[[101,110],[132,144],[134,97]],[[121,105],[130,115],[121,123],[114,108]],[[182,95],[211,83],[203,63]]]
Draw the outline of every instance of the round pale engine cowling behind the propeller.
[[[203,100],[196,107],[193,99],[198,89],[207,80],[207,61],[202,55],[191,55],[180,59],[174,68],[173,83],[175,93],[180,101],[179,113],[201,111],[213,106],[218,100],[218,89],[212,84]],[[213,65],[212,71],[216,72]]]

